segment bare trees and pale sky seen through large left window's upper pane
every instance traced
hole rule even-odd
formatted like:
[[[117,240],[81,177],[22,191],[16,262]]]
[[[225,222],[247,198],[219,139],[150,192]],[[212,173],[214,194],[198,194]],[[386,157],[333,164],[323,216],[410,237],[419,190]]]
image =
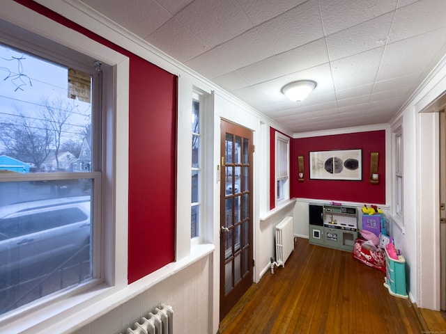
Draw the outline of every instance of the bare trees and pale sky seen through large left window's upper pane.
[[[0,46],[0,155],[27,164],[30,173],[90,166],[79,155],[83,145],[91,145],[91,98],[89,92],[87,101],[69,97],[68,73],[66,67]],[[83,82],[72,86],[75,92],[90,90]]]

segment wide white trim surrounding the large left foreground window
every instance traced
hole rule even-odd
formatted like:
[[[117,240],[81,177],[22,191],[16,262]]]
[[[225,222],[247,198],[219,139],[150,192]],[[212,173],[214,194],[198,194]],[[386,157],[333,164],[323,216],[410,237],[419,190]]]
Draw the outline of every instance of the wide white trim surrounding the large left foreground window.
[[[110,75],[116,79],[114,88],[118,93],[109,97],[109,102],[114,105],[113,109],[116,110],[116,113],[114,120],[109,120],[109,124],[107,124],[107,140],[115,139],[113,145],[107,145],[107,152],[105,152],[107,160],[104,161],[105,168],[103,170],[103,173],[107,174],[107,180],[110,180],[109,189],[106,192],[112,195],[102,198],[102,205],[114,207],[115,210],[109,212],[109,216],[104,217],[112,223],[105,224],[105,228],[102,230],[105,239],[103,250],[111,255],[102,256],[102,259],[108,259],[108,262],[103,263],[105,270],[103,271],[102,284],[94,287],[87,284],[84,289],[61,294],[56,300],[50,300],[49,297],[43,298],[0,317],[2,331],[10,331],[10,333],[19,333],[30,328],[33,328],[33,333],[43,333],[49,328],[57,328],[56,331],[59,332],[68,331],[74,325],[66,319],[75,318],[77,328],[88,324],[91,321],[92,312],[81,311],[94,305],[95,314],[99,315],[109,306],[98,307],[96,303],[105,304],[100,303],[105,296],[110,296],[127,285],[128,160],[122,159],[122,157],[128,157],[129,60],[128,57],[47,19],[19,3],[6,1],[2,3],[2,6],[0,19],[22,26],[24,29],[38,33],[49,40],[54,40],[61,45],[114,66],[114,71]],[[112,114],[113,109],[107,110],[107,113]],[[121,157],[121,159],[117,159],[117,157]],[[116,192],[116,189],[119,191]],[[115,205],[116,202],[119,205]],[[120,237],[117,238],[116,235]],[[26,312],[26,317],[24,317],[24,312]],[[76,317],[73,317],[73,312],[77,312]]]

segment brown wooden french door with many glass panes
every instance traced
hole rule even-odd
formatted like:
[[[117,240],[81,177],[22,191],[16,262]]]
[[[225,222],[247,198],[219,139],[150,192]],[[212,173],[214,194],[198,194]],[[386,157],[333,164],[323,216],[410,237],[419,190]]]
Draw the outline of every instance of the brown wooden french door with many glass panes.
[[[221,122],[220,319],[252,285],[252,132]]]

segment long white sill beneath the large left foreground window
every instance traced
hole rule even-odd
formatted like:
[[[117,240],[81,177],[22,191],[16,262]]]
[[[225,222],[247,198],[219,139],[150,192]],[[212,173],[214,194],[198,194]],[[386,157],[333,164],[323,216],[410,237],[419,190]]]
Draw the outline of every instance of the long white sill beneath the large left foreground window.
[[[86,292],[70,296],[70,298],[48,303],[48,305],[17,316],[0,321],[2,333],[22,333],[32,330],[33,333],[66,333],[76,331],[95,319],[110,312],[119,305],[138,296],[144,291],[174,276],[179,271],[213,253],[213,244],[201,244],[192,247],[190,255],[171,262],[157,271],[121,287],[96,285]]]

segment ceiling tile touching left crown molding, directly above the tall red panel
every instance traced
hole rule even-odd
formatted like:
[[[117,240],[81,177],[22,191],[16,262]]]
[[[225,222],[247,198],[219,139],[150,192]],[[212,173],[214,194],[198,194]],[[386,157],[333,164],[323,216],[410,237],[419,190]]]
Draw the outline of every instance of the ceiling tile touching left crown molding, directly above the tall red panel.
[[[169,19],[160,29],[148,35],[146,40],[182,63],[209,50],[206,44],[175,18]]]

